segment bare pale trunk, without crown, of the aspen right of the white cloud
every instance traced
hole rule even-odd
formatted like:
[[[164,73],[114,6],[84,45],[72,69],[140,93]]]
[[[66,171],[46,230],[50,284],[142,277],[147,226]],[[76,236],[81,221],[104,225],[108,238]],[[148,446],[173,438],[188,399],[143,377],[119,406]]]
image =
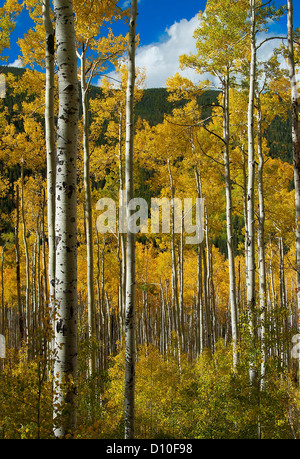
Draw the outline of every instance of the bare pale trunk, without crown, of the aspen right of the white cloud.
[[[235,279],[235,261],[233,247],[233,225],[232,225],[232,193],[231,193],[231,175],[230,175],[230,157],[229,157],[229,72],[224,79],[223,89],[223,137],[225,142],[224,148],[224,165],[225,165],[225,188],[226,188],[226,225],[227,225],[227,249],[228,249],[228,266],[229,266],[229,298],[231,312],[231,333],[232,333],[232,356],[233,368],[236,369],[238,363],[237,353],[237,305],[236,305],[236,279]]]

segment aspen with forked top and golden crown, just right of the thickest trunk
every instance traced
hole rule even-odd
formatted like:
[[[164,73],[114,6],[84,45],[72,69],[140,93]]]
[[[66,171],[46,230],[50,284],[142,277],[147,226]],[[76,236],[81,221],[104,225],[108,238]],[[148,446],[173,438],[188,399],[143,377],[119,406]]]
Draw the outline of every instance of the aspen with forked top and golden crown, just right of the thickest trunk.
[[[94,254],[93,254],[93,212],[91,195],[90,173],[90,142],[89,142],[89,101],[88,91],[92,79],[107,69],[108,62],[116,61],[125,48],[124,37],[114,37],[110,31],[108,37],[97,38],[101,34],[105,22],[119,19],[123,16],[114,1],[94,2],[74,0],[76,13],[76,41],[77,56],[80,60],[80,86],[82,100],[82,123],[83,123],[83,171],[85,190],[85,216],[86,216],[86,246],[87,246],[87,292],[88,292],[88,322],[89,334],[93,340],[96,334],[96,310],[94,294]],[[89,52],[95,52],[92,58]],[[95,373],[96,356],[92,346],[90,359],[90,371]]]

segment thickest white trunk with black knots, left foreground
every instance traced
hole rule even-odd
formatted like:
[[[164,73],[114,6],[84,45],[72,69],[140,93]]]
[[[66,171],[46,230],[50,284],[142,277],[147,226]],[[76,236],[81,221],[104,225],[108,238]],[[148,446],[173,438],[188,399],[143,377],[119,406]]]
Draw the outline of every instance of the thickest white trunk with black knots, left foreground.
[[[59,113],[55,208],[55,393],[54,434],[76,427],[77,374],[77,218],[76,161],[78,80],[73,2],[54,0]]]

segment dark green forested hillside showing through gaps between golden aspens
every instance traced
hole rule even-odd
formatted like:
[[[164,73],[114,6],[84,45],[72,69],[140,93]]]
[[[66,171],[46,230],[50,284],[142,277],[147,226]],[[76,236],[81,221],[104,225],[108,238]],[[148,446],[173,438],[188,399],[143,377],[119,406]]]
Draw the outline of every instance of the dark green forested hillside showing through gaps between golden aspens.
[[[2,69],[2,73],[8,74],[11,73],[18,81],[19,78],[24,75],[26,72],[25,69],[22,68],[13,68],[13,67],[6,67]],[[218,97],[220,96],[219,91],[204,91],[201,96],[197,98],[197,103],[199,108],[201,108],[201,119],[205,120],[212,115],[213,107],[216,106],[218,102]],[[11,119],[16,119],[16,114],[18,111],[22,110],[22,103],[27,101],[28,98],[32,98],[32,96],[28,96],[27,90],[23,92],[19,92],[17,95],[12,94],[12,91],[8,88],[7,96],[4,100],[4,105],[8,108],[8,121],[10,122]],[[88,92],[89,100],[95,100],[97,98],[105,98],[103,94],[103,90],[96,86],[91,86]],[[171,115],[172,111],[176,108],[182,108],[186,104],[186,100],[178,100],[178,101],[170,101],[169,100],[169,93],[166,88],[152,88],[152,89],[144,89],[142,91],[142,97],[139,101],[137,101],[135,105],[135,118],[142,120],[146,120],[150,126],[156,126],[164,121],[165,115]],[[80,114],[82,114],[82,104],[80,101],[79,107]],[[92,115],[90,116],[90,122],[92,123]],[[14,121],[17,129],[19,128],[22,130],[22,126],[19,125],[19,122],[16,120]],[[107,128],[107,125],[104,126],[104,131]],[[104,131],[99,136],[98,143],[105,144],[107,142],[105,138]],[[269,156],[272,158],[280,158],[282,161],[286,161],[288,163],[292,163],[292,141],[291,136],[289,133],[291,132],[291,116],[288,112],[285,117],[276,115],[274,119],[272,119],[270,125],[266,130],[266,140],[267,140],[267,147],[269,149]],[[2,168],[3,170],[3,168]],[[46,169],[44,170],[45,173]],[[30,175],[30,171],[25,171]],[[144,168],[143,165],[140,165],[140,174],[141,180],[139,181],[139,186],[137,189],[137,194],[140,197],[145,198],[148,200],[150,204],[150,190],[149,186],[145,185],[146,182],[151,179],[151,173],[149,175],[149,171],[147,168]],[[13,183],[20,175],[20,170],[16,169],[16,167],[12,167],[8,170],[8,175],[10,177],[11,183]],[[102,187],[105,185],[105,181],[100,180],[100,182],[94,181],[94,186],[96,188]],[[292,186],[292,182],[291,182]],[[0,208],[2,210],[11,210],[12,209],[12,198],[10,196],[5,196],[0,201]],[[225,214],[221,216],[222,219],[225,220]],[[3,222],[3,225],[7,225],[7,222]],[[239,245],[243,242],[243,225],[244,219],[242,217],[236,216],[234,218],[234,247],[235,251],[239,252]],[[6,228],[7,229],[7,228]],[[226,242],[226,228],[224,227],[221,231],[220,235],[214,240],[214,244],[218,247],[221,252],[227,257],[227,242]]]

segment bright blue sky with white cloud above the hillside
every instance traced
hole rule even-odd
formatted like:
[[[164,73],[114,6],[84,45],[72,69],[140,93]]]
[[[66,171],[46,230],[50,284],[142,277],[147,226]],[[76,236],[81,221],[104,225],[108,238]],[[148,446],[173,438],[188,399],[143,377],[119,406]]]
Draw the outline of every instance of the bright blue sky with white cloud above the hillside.
[[[120,6],[129,3],[121,0]],[[4,1],[0,0],[0,5]],[[277,4],[282,4],[276,0]],[[137,32],[140,35],[140,46],[137,51],[137,65],[144,67],[147,74],[147,87],[162,87],[166,79],[178,71],[178,57],[181,54],[194,52],[195,41],[193,31],[198,26],[197,13],[204,10],[206,0],[139,0],[139,16]],[[300,1],[294,0],[294,25],[300,27]],[[11,37],[11,49],[7,52],[9,63],[18,65],[20,54],[17,46],[18,38],[24,36],[30,27],[30,21],[25,13],[17,19],[15,31]],[[118,27],[116,33],[126,27]],[[286,33],[286,18],[280,23],[273,24],[270,34]],[[262,51],[265,56],[272,52],[276,41],[268,42]],[[192,71],[185,75],[196,79]]]

